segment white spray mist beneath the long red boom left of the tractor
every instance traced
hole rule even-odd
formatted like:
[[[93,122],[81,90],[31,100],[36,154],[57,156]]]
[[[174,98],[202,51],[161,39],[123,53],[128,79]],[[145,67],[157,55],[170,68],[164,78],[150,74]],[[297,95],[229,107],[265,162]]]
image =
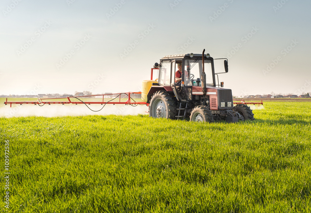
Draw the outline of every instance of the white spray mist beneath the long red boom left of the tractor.
[[[89,105],[92,110],[100,110],[101,105]],[[27,116],[43,116],[43,117],[62,117],[62,116],[85,116],[85,115],[148,115],[146,113],[148,107],[146,105],[111,105],[107,104],[101,111],[93,112],[84,104],[81,105],[17,105],[0,107],[0,117],[27,117]]]

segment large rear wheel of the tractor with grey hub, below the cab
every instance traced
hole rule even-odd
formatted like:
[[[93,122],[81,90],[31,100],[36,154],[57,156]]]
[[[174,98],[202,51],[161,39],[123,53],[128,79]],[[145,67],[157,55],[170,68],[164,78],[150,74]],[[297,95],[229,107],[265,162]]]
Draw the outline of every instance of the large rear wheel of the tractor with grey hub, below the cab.
[[[153,94],[149,105],[149,116],[153,118],[175,119],[176,105],[169,93],[161,90]]]

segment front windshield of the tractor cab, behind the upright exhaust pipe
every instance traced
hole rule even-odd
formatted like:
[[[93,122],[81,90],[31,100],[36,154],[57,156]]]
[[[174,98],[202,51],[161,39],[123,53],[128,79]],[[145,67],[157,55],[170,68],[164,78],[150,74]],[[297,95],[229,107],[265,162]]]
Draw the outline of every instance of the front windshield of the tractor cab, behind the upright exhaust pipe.
[[[185,83],[188,86],[201,86],[201,75],[203,72],[202,58],[185,60]],[[206,74],[206,85],[214,86],[213,73],[210,60],[204,60],[204,72]]]

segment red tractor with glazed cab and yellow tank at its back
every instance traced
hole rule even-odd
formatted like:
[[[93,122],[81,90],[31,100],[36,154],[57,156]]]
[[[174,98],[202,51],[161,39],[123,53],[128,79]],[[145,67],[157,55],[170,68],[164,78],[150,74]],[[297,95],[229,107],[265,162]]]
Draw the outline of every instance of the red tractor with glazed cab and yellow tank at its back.
[[[204,50],[205,51],[205,50]],[[230,123],[254,120],[252,110],[245,104],[234,106],[231,89],[219,84],[214,60],[210,54],[169,55],[160,59],[156,81],[143,81],[142,100],[149,104],[149,116],[154,118],[185,119]],[[217,76],[217,83],[216,83]],[[151,73],[152,79],[152,73]]]

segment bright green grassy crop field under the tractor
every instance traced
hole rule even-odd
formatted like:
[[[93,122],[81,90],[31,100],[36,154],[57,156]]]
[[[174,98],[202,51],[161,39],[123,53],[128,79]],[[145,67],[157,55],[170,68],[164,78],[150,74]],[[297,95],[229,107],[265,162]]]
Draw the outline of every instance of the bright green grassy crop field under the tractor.
[[[253,113],[235,124],[0,117],[0,157],[9,141],[10,160],[10,209],[0,209],[311,212],[311,103],[265,102]]]

